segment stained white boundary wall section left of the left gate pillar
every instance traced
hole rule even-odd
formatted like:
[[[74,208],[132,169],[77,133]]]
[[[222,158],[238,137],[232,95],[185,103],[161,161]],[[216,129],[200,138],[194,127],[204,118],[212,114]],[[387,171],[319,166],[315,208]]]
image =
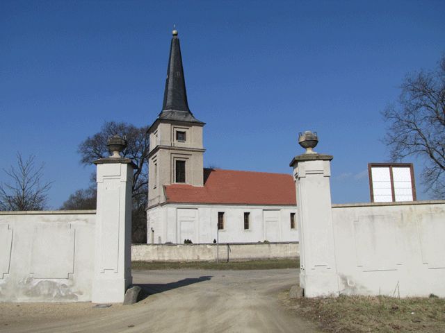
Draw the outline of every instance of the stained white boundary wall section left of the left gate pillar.
[[[0,212],[0,302],[91,300],[95,211]]]

